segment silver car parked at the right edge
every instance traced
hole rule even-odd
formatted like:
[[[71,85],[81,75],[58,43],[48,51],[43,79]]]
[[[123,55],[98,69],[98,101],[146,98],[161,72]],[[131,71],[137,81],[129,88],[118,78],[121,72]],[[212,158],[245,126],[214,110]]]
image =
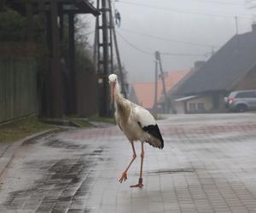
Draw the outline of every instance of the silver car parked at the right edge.
[[[226,107],[231,112],[246,112],[256,109],[256,90],[241,90],[231,92],[224,98]]]

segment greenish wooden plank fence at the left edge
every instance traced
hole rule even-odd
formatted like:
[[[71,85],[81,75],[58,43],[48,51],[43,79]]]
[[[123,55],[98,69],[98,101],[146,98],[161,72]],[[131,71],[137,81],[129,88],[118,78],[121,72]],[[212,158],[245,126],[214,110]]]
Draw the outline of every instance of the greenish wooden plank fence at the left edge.
[[[30,59],[0,60],[0,123],[37,112],[37,72]]]

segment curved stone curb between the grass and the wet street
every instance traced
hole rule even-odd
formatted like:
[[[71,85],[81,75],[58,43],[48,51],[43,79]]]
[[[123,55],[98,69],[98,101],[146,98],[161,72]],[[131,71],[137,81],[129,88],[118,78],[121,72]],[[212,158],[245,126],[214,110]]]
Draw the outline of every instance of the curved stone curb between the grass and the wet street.
[[[44,136],[44,135],[48,135],[54,132],[57,132],[61,129],[59,128],[55,128],[52,130],[45,130],[42,132],[38,132],[36,134],[33,135],[28,135],[25,138],[19,140],[19,141],[15,141],[12,145],[10,145],[3,153],[3,156],[0,158],[0,179],[3,176],[4,171],[6,170],[6,168],[9,166],[10,162],[12,161],[12,159],[15,157],[15,152],[17,151],[17,149],[26,141],[31,141],[34,140],[38,137]]]

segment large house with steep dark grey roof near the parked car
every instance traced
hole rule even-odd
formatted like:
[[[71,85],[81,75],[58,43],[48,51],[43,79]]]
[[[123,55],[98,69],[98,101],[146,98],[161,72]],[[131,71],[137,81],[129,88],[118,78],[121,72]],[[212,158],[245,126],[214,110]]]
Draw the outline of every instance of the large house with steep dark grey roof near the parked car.
[[[178,112],[223,112],[231,91],[256,89],[256,25],[252,28],[232,37],[171,90]]]

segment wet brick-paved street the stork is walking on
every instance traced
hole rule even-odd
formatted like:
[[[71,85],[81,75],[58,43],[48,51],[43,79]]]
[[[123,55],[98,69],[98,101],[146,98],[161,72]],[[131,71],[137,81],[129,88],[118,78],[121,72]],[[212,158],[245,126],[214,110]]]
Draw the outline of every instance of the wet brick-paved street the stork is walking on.
[[[139,158],[116,127],[70,130],[23,144],[1,178],[0,212],[256,212],[256,115],[160,120],[164,150]],[[137,143],[137,156],[139,147]]]

